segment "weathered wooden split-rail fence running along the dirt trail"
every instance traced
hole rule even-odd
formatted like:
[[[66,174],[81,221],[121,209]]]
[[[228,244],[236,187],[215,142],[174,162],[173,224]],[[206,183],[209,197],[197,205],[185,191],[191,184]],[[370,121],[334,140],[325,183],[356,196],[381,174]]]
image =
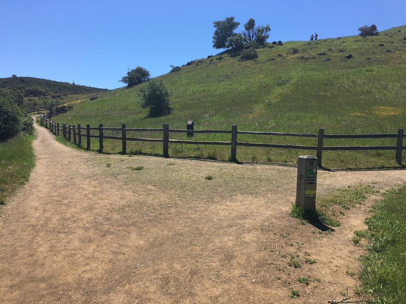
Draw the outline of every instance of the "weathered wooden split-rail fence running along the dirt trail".
[[[285,148],[285,149],[303,149],[303,150],[316,150],[316,156],[318,158],[319,167],[322,167],[322,157],[324,150],[395,150],[396,162],[401,165],[402,162],[402,150],[406,149],[403,146],[403,138],[406,135],[403,134],[403,129],[398,129],[397,133],[393,134],[324,134],[324,129],[320,128],[318,134],[300,134],[300,133],[279,133],[279,132],[254,132],[254,131],[238,131],[237,125],[232,125],[231,130],[181,130],[170,129],[169,124],[163,124],[161,128],[127,128],[125,124],[121,125],[121,128],[104,127],[103,124],[99,124],[98,127],[90,127],[89,124],[86,127],[59,124],[53,122],[50,119],[41,116],[41,125],[50,129],[55,135],[59,135],[62,131],[62,135],[69,141],[72,141],[78,145],[82,145],[82,137],[86,138],[86,149],[90,149],[90,138],[98,138],[99,153],[103,153],[103,139],[121,140],[122,142],[122,154],[127,153],[127,141],[149,141],[149,142],[162,142],[163,151],[162,154],[165,158],[169,157],[169,144],[212,144],[212,145],[229,145],[231,146],[231,161],[237,161],[237,146],[249,146],[249,147],[266,147],[266,148]],[[90,130],[97,130],[98,135],[91,135]],[[82,133],[82,131],[86,131]],[[108,136],[104,134],[104,131],[118,131],[121,132],[121,136]],[[135,132],[162,132],[162,139],[156,138],[134,138],[127,137],[128,131]],[[196,141],[196,140],[179,140],[169,139],[170,133],[223,133],[231,134],[231,141]],[[317,146],[305,146],[305,145],[292,145],[292,144],[277,144],[277,143],[253,143],[253,142],[238,142],[238,134],[250,134],[250,135],[273,135],[273,136],[295,136],[295,137],[313,137],[317,138]],[[397,143],[393,146],[324,146],[324,138],[396,138]]]

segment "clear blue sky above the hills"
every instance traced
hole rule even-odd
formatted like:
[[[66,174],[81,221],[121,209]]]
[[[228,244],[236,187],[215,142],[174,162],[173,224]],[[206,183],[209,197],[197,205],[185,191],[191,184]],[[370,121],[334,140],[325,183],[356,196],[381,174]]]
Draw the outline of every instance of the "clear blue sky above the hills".
[[[269,24],[269,42],[358,34],[406,24],[405,0],[139,1],[3,0],[0,3],[0,78],[29,76],[114,89],[127,68],[152,77],[170,65],[206,58],[213,21],[234,16]],[[406,33],[405,33],[406,34]]]

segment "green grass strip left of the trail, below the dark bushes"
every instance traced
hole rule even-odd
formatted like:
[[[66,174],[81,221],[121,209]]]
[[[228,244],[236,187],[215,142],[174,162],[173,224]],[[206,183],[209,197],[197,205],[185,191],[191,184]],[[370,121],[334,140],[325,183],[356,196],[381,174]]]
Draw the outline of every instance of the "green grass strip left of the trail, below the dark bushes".
[[[32,135],[18,135],[0,142],[0,205],[5,205],[15,189],[28,180],[35,166],[33,138]]]

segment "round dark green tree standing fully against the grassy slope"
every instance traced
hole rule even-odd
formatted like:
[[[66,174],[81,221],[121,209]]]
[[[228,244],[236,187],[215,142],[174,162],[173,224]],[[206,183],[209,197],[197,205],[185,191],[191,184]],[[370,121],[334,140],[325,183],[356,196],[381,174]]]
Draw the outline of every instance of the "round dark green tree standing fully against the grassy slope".
[[[149,108],[150,117],[167,115],[173,111],[170,105],[171,93],[162,81],[151,80],[140,89],[138,96],[143,101],[141,107]]]

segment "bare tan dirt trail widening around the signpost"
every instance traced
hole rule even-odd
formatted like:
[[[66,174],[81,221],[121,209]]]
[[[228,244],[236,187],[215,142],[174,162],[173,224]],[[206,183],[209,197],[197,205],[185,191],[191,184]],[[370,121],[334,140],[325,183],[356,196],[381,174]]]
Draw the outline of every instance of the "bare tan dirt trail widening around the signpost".
[[[296,168],[97,155],[37,132],[37,166],[0,217],[2,303],[357,299],[363,249],[351,239],[376,197],[322,232],[288,215]],[[318,195],[405,181],[404,170],[319,171]]]

